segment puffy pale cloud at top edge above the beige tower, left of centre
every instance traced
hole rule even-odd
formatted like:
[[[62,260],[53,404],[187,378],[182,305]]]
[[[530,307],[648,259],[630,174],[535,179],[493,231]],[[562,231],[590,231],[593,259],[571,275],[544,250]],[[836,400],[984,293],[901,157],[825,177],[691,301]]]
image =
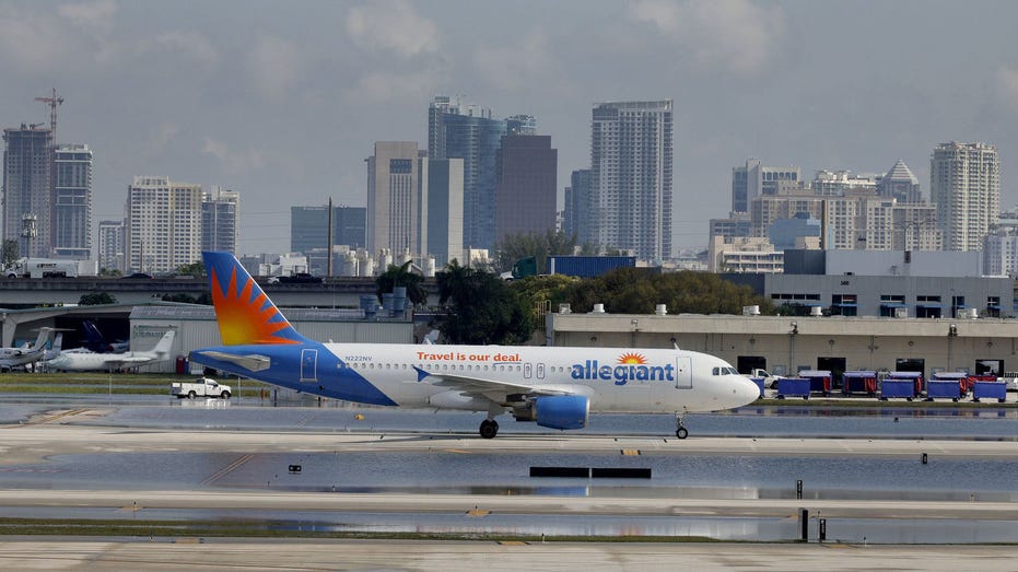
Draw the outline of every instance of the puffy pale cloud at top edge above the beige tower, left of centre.
[[[365,51],[387,51],[401,58],[438,51],[438,26],[419,15],[406,0],[379,0],[351,9],[347,33]]]

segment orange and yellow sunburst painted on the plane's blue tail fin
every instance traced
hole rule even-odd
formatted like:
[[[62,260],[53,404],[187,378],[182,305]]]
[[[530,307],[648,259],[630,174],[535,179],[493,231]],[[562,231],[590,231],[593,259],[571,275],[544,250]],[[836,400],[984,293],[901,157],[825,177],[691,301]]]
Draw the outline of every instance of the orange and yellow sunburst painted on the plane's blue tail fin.
[[[223,288],[217,270],[210,269],[212,281],[212,304],[219,318],[219,332],[226,346],[250,343],[300,343],[296,340],[278,336],[280,330],[290,328],[290,323],[279,313],[265,292],[247,278],[243,288],[237,288],[236,267],[229,269],[230,283]]]

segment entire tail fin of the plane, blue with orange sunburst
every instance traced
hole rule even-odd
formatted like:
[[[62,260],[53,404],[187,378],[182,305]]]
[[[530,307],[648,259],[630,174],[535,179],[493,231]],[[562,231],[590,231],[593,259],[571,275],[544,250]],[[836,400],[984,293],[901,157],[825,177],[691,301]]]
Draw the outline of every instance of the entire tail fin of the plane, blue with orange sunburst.
[[[202,258],[224,345],[304,341],[232,254],[206,252]]]

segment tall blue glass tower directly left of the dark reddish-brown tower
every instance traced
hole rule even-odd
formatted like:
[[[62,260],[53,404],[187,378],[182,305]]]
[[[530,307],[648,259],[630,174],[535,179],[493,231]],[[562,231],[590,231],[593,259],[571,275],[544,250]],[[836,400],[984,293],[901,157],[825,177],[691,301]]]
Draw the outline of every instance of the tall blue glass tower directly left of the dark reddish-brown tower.
[[[523,132],[534,129],[534,120],[512,122]],[[494,246],[494,199],[496,154],[508,120],[492,119],[491,109],[464,105],[459,98],[435,97],[428,110],[428,152],[431,159],[464,160],[464,246]]]

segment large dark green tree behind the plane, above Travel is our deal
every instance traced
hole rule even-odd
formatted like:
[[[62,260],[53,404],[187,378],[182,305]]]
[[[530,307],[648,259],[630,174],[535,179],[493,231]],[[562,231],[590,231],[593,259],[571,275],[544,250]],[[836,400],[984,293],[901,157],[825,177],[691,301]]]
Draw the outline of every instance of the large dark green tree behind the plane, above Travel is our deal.
[[[518,345],[530,339],[534,319],[527,301],[504,280],[457,260],[436,278],[445,310],[437,325],[449,343]]]

